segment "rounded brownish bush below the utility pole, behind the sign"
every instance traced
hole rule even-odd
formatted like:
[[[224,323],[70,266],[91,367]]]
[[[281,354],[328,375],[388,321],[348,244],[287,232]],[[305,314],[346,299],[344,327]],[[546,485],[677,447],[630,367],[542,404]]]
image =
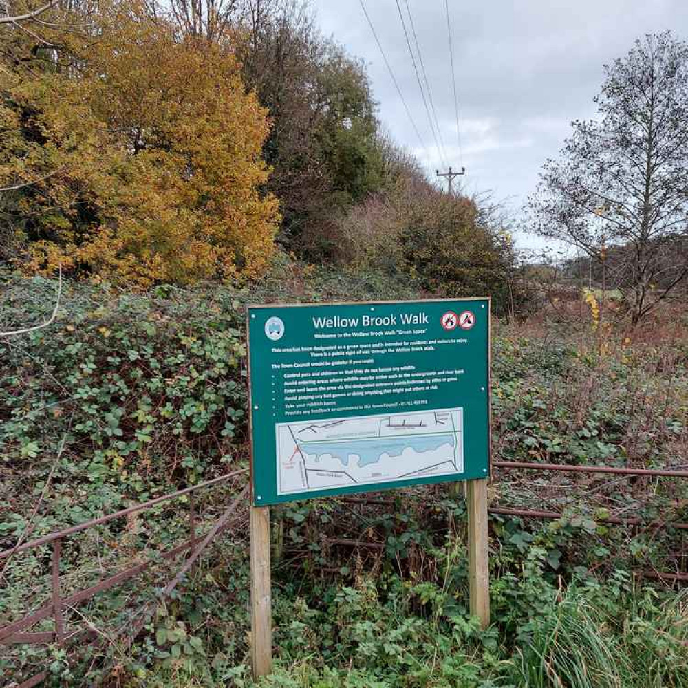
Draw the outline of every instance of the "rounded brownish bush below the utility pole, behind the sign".
[[[521,299],[506,224],[484,200],[438,193],[400,175],[342,217],[339,232],[341,257],[358,270],[436,297],[491,296],[499,315]]]

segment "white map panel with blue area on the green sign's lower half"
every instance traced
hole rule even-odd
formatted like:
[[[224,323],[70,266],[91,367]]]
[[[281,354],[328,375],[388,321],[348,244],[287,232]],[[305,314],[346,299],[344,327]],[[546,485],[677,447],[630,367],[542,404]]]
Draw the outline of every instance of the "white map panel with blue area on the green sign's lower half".
[[[463,409],[275,426],[277,493],[463,473]]]

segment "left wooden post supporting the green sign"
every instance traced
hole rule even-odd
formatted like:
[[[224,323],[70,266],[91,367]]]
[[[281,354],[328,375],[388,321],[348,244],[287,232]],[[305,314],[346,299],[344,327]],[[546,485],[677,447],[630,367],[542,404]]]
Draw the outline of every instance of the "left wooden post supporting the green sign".
[[[251,665],[253,678],[272,671],[270,508],[251,506]]]

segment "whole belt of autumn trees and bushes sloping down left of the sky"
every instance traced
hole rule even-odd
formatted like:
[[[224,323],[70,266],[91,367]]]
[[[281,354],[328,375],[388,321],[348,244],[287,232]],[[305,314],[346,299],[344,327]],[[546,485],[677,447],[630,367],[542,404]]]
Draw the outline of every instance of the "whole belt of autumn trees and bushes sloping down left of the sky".
[[[255,281],[281,251],[507,308],[502,218],[388,140],[365,67],[305,3],[52,13],[0,34],[3,259],[147,288]]]

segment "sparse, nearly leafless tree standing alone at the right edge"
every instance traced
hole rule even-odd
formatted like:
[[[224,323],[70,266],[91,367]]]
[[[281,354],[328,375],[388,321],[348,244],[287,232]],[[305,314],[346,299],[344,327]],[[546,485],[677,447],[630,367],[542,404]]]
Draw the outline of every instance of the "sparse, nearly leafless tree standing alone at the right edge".
[[[648,35],[604,71],[599,118],[572,122],[529,208],[536,233],[591,259],[623,248],[614,286],[636,324],[688,277],[688,44]]]

